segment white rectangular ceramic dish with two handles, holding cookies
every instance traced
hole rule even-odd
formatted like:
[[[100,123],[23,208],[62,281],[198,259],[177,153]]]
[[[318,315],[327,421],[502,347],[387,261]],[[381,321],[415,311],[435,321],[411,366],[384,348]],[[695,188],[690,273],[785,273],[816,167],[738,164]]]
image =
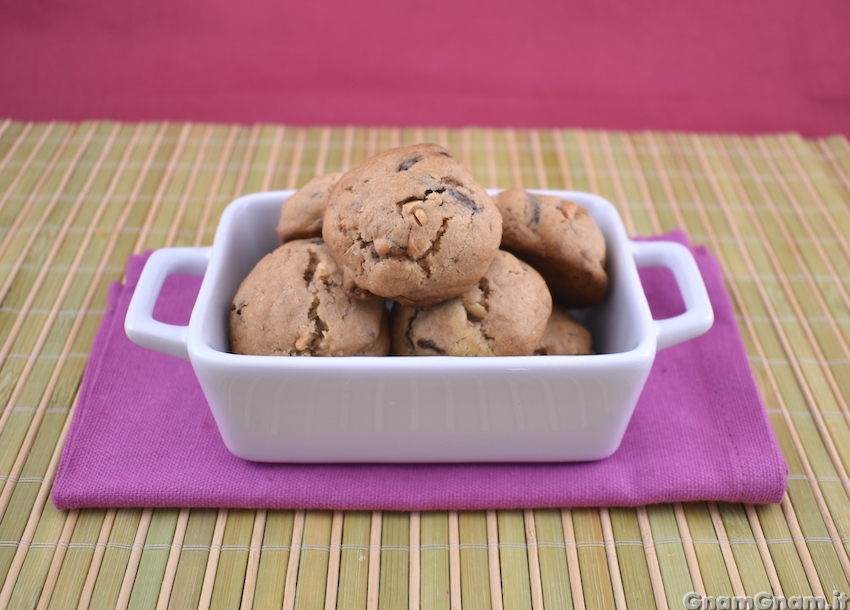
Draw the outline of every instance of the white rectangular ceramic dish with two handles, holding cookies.
[[[154,252],[125,329],[135,343],[187,358],[227,447],[268,462],[516,462],[596,460],[620,445],[656,350],[704,333],[713,312],[691,253],[630,241],[601,197],[541,191],[590,210],[608,247],[610,292],[575,312],[592,356],[494,358],[245,356],[228,352],[237,287],[277,247],[274,228],[292,191],[241,197],[213,246]],[[639,266],[669,268],[686,311],[654,321]],[[188,326],[152,318],[166,277],[203,276]]]

